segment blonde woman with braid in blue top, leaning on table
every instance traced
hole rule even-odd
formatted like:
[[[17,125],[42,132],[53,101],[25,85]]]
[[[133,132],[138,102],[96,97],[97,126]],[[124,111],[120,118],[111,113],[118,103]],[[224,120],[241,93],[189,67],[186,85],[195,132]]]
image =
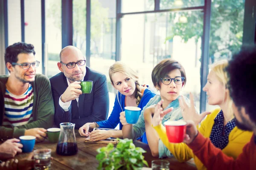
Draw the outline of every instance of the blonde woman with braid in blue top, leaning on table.
[[[154,91],[148,86],[140,85],[137,73],[122,62],[115,62],[109,68],[109,78],[113,87],[118,91],[110,117],[108,120],[86,123],[79,129],[80,135],[90,136],[91,141],[104,140],[109,137],[122,138],[122,124],[120,123],[119,114],[125,110],[125,106],[136,106],[143,110],[148,101],[155,96]],[[98,129],[89,132],[89,128],[113,129],[118,124],[120,125],[120,130]],[[141,140],[147,143],[145,135]]]

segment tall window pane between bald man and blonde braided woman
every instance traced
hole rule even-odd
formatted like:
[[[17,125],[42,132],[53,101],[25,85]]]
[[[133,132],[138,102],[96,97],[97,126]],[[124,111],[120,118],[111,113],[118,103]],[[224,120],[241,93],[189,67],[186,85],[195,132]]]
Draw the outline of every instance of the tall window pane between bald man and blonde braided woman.
[[[90,67],[105,74],[108,80],[110,116],[115,102],[115,90],[108,70],[116,59],[116,0],[91,1],[90,53]]]

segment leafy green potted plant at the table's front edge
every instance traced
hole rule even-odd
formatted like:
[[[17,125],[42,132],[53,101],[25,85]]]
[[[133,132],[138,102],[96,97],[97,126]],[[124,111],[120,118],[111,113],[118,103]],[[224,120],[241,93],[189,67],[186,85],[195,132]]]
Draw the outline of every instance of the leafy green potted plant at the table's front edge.
[[[141,147],[135,147],[131,139],[118,139],[116,147],[109,143],[106,147],[97,149],[96,159],[99,161],[99,170],[139,170],[144,164],[142,153],[146,151]]]

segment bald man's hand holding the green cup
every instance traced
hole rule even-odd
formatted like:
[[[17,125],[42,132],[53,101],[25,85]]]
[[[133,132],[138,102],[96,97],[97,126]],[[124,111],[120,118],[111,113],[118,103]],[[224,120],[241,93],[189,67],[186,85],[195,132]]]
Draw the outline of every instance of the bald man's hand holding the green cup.
[[[66,103],[66,102],[69,102],[71,100],[78,98],[80,96],[80,94],[82,94],[80,84],[81,84],[81,82],[71,83],[67,87],[66,91],[64,91],[64,93],[61,95],[61,101]]]

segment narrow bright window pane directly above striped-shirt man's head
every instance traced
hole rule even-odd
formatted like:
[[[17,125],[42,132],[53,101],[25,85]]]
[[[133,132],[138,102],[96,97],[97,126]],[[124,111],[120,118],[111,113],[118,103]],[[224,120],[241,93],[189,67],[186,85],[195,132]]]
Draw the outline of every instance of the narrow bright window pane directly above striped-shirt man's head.
[[[42,26],[41,1],[25,0],[25,42],[34,45],[35,58],[40,61],[36,73],[42,74]]]

